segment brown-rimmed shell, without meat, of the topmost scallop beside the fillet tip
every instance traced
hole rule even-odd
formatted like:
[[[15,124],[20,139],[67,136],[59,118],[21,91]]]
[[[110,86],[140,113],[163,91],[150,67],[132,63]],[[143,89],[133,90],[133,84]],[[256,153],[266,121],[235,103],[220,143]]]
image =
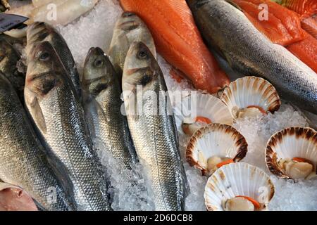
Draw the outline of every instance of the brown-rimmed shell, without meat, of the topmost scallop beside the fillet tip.
[[[223,91],[220,99],[228,106],[234,118],[235,109],[248,106],[256,106],[271,113],[280,108],[278,92],[270,82],[261,77],[236,79]]]

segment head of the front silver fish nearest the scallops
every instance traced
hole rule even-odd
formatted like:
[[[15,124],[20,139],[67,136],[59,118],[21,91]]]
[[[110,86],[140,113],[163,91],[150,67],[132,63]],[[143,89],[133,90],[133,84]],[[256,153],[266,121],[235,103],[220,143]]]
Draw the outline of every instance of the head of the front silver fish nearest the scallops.
[[[159,70],[149,48],[141,41],[133,42],[125,58],[123,91],[135,91],[137,86],[149,89]]]

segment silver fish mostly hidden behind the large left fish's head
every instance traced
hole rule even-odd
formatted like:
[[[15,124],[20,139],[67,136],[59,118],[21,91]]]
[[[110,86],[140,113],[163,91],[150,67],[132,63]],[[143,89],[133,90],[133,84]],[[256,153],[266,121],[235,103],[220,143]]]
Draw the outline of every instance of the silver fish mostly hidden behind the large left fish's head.
[[[61,62],[63,63],[66,71],[70,75],[78,96],[81,97],[80,76],[77,72],[75,60],[73,58],[68,45],[61,36],[61,34],[51,25],[44,22],[35,22],[27,29],[27,52],[32,51],[32,43],[49,41],[51,46],[57,52]]]

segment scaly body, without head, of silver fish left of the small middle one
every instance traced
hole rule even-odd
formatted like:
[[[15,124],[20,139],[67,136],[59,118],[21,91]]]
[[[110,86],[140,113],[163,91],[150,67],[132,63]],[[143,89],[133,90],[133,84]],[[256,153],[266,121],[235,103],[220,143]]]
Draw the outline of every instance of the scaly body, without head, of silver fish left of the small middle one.
[[[80,210],[111,210],[101,162],[92,149],[83,110],[70,86],[52,89],[39,104],[46,123],[46,133],[42,135],[67,167]]]

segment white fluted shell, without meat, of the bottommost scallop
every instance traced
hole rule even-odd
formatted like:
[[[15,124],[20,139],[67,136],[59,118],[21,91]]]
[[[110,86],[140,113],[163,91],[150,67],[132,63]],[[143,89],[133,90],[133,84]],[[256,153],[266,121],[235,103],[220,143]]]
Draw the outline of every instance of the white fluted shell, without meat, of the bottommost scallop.
[[[244,195],[266,207],[274,195],[274,185],[263,170],[244,162],[224,165],[208,179],[204,198],[209,211],[223,211],[222,203],[237,195]]]

